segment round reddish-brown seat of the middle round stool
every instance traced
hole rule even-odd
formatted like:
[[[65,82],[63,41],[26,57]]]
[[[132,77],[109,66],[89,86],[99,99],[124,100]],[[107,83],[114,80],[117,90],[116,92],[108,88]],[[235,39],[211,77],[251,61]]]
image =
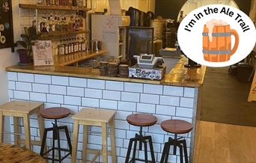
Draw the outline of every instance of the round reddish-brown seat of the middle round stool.
[[[156,121],[156,117],[151,114],[130,114],[127,117],[127,122],[134,126],[153,126]]]

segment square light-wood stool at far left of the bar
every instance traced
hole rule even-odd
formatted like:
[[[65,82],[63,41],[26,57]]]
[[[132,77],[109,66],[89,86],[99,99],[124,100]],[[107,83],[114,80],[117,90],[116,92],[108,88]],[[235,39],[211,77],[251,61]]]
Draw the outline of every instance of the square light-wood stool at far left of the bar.
[[[43,138],[43,118],[40,116],[40,110],[43,109],[42,102],[11,101],[0,106],[0,143],[3,142],[4,134],[4,116],[13,117],[14,144],[25,144],[28,150],[31,150],[31,144],[40,145]],[[30,119],[31,114],[37,114],[38,126],[40,132],[40,141],[31,141]],[[23,118],[25,140],[19,138],[19,118]],[[10,132],[5,132],[10,133]]]

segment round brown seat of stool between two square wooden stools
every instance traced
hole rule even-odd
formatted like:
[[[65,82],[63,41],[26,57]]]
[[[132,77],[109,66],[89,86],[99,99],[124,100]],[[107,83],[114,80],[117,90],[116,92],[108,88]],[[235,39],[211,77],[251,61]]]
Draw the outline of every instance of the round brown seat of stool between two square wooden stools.
[[[46,119],[61,119],[67,117],[70,113],[70,109],[61,107],[46,108],[40,111],[41,116]]]

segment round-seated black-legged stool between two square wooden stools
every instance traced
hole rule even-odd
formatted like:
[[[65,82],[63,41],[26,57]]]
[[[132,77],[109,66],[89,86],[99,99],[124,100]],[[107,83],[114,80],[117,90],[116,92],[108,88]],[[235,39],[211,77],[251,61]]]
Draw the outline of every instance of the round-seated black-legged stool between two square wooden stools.
[[[43,142],[40,150],[40,156],[42,156],[44,159],[52,160],[52,162],[55,162],[55,161],[61,162],[71,154],[72,145],[71,145],[70,135],[68,133],[67,126],[58,126],[58,123],[57,123],[57,120],[69,116],[70,113],[71,111],[68,108],[61,108],[61,107],[46,108],[40,111],[40,114],[43,118],[54,120],[54,123],[52,123],[53,127],[46,128],[44,129],[44,132],[43,132]],[[61,148],[60,133],[59,133],[60,130],[64,130],[66,133],[67,144],[69,146],[68,150]],[[50,132],[50,131],[52,131],[52,148],[50,150],[47,150],[46,153],[43,153],[43,149],[46,147],[47,132]],[[58,141],[58,147],[55,147],[55,140]],[[55,159],[55,150],[58,150],[58,159]],[[52,158],[45,156],[51,151],[52,151]],[[61,158],[61,151],[66,151],[67,155]]]

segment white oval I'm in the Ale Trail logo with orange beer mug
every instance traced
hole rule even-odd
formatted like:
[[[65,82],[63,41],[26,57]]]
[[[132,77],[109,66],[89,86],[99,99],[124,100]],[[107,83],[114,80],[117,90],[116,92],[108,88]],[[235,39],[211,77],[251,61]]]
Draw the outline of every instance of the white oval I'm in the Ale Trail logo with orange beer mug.
[[[237,8],[212,4],[199,7],[180,23],[180,49],[207,67],[227,67],[242,61],[256,42],[255,25]]]

